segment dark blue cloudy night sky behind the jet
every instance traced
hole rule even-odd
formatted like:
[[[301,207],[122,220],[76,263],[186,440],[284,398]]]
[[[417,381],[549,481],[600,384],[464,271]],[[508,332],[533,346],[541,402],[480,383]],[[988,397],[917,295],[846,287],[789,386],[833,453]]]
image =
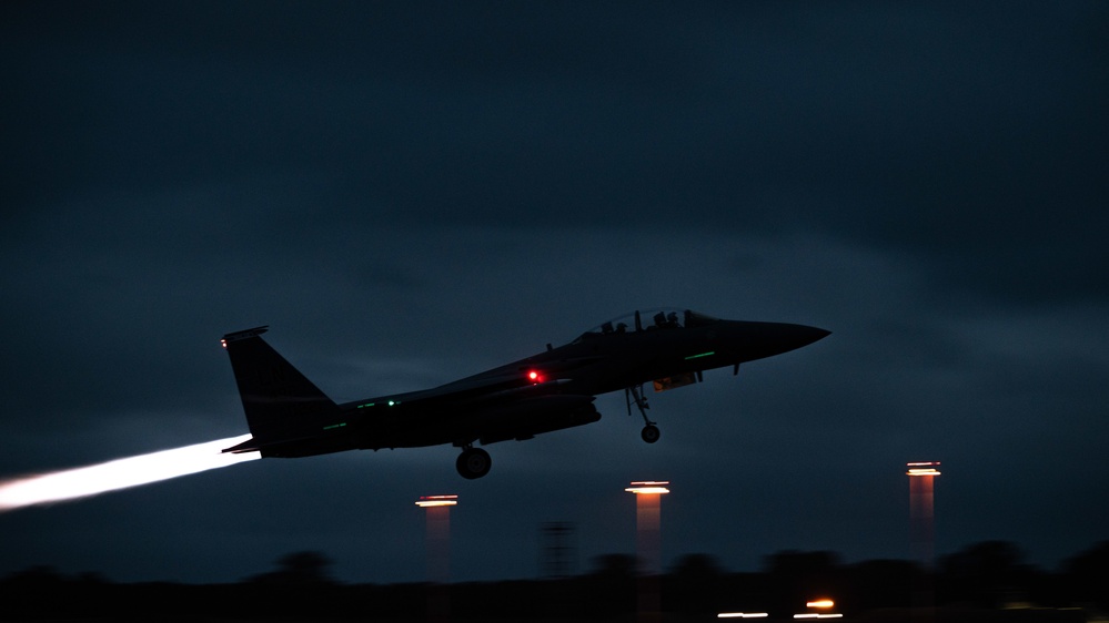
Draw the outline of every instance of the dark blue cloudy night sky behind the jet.
[[[0,574],[234,581],[317,550],[424,578],[632,553],[1048,569],[1109,539],[1109,4],[6,2],[0,478],[246,432],[219,338],[336,400],[421,389],[662,305],[834,334],[596,425],[263,460],[0,514]]]

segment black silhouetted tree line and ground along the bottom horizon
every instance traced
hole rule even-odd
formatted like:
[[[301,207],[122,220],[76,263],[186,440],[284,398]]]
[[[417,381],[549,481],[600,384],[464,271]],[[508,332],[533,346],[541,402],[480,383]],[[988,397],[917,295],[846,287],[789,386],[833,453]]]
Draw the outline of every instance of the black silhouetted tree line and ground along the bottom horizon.
[[[278,560],[275,570],[230,584],[114,583],[95,573],[63,575],[36,566],[0,580],[0,603],[9,621],[393,621],[425,619],[431,591],[445,590],[457,619],[613,621],[635,614],[639,580],[628,554],[598,556],[581,575],[437,588],[345,584],[331,576],[330,566],[322,553],[294,552]],[[932,571],[904,560],[845,564],[834,552],[782,551],[766,556],[760,571],[737,573],[710,555],[687,554],[658,585],[663,613],[675,621],[736,611],[792,620],[806,601],[821,596],[834,599],[845,617],[874,622],[907,620],[921,606],[936,606],[937,621],[1086,621],[1091,612],[1109,611],[1109,541],[1057,571],[1024,563],[1020,549],[1006,541],[969,545],[941,558]],[[951,614],[958,612],[967,617]]]

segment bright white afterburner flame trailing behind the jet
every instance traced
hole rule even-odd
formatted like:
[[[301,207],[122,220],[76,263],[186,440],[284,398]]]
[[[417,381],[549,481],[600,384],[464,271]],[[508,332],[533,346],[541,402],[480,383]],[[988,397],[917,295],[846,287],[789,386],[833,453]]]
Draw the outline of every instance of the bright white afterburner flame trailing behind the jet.
[[[250,436],[243,435],[88,467],[3,480],[0,481],[0,512],[98,496],[260,459],[259,452],[221,452],[224,448],[248,439]]]

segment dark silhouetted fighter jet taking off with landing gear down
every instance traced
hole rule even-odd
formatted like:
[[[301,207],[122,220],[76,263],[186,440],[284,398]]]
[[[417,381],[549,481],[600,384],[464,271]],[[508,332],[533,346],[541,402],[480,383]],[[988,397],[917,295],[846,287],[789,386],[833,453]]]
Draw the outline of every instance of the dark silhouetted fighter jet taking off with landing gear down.
[[[262,339],[268,326],[230,333],[231,357],[252,439],[224,452],[310,457],[344,450],[460,448],[466,479],[485,476],[475,446],[523,441],[601,419],[593,401],[624,390],[628,415],[643,416],[643,440],[658,441],[643,386],[666,391],[703,380],[704,370],[739,365],[813,344],[829,331],[785,323],[724,320],[688,309],[615,318],[557,348],[432,389],[336,404]]]

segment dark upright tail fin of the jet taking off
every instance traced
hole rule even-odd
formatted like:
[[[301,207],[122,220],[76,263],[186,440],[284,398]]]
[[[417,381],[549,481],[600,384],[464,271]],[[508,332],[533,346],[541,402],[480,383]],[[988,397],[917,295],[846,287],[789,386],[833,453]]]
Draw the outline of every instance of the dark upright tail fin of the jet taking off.
[[[253,443],[312,435],[339,410],[304,375],[260,336],[269,326],[223,336]]]

